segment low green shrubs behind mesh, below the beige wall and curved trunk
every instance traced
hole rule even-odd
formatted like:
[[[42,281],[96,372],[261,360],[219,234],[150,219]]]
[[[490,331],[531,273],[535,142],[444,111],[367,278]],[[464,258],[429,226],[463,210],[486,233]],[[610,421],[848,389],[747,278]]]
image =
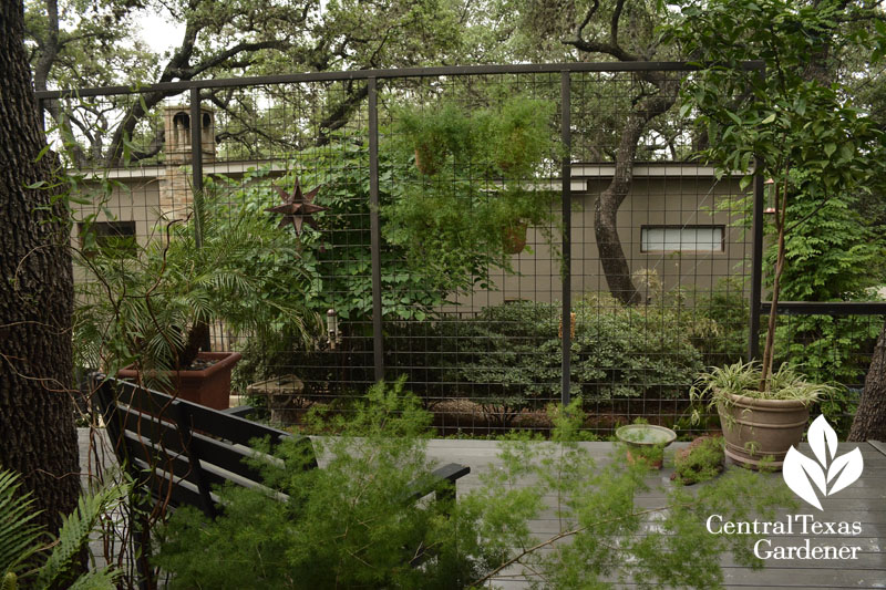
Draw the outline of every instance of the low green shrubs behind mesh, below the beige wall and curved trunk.
[[[660,302],[631,308],[596,296],[573,309],[571,394],[586,402],[677,398],[703,366],[690,314]],[[433,349],[442,369],[437,379],[430,368],[422,381],[453,383],[450,393],[471,397],[507,424],[524,408],[559,398],[559,320],[557,303],[519,301],[485,308],[470,320],[423,327],[413,338]]]

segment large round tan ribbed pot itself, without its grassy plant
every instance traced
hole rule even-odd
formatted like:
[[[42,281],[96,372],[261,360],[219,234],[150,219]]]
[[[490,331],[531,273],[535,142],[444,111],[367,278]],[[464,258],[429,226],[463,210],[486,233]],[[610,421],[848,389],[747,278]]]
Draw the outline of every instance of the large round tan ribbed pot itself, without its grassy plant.
[[[810,411],[794,400],[758,400],[728,394],[730,404],[718,404],[725,438],[727,457],[755,469],[764,457],[770,466],[782,468],[791,445],[800,444],[810,420]]]

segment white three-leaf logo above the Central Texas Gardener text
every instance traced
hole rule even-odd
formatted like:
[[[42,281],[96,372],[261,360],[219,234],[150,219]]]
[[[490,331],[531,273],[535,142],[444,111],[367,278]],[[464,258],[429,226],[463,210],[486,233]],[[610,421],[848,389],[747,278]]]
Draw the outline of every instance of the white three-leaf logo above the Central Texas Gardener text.
[[[810,426],[807,437],[812,452],[815,453],[815,459],[791,446],[784,457],[782,476],[794,494],[822,510],[816,488],[822,497],[833,496],[861,477],[865,462],[857,447],[836,457],[837,433],[824,415],[815,418]]]

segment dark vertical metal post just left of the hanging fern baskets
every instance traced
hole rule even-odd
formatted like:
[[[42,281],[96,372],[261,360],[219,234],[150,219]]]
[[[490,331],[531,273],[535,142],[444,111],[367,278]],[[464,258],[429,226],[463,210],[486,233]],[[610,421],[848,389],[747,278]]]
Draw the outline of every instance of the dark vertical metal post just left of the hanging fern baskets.
[[[381,311],[381,221],[379,219],[379,104],[374,77],[369,84],[369,234],[372,257],[372,352],[375,381],[384,379]]]

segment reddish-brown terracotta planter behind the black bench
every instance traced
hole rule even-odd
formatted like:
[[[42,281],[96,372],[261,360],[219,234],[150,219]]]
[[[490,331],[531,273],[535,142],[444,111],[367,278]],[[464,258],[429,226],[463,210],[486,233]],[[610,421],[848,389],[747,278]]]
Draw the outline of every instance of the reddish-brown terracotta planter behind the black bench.
[[[230,406],[230,371],[243,355],[239,352],[200,352],[197,359],[215,360],[203,371],[175,371],[169,374],[165,393],[203,404],[215,410]],[[117,377],[135,381],[138,372],[130,365],[117,372]]]

